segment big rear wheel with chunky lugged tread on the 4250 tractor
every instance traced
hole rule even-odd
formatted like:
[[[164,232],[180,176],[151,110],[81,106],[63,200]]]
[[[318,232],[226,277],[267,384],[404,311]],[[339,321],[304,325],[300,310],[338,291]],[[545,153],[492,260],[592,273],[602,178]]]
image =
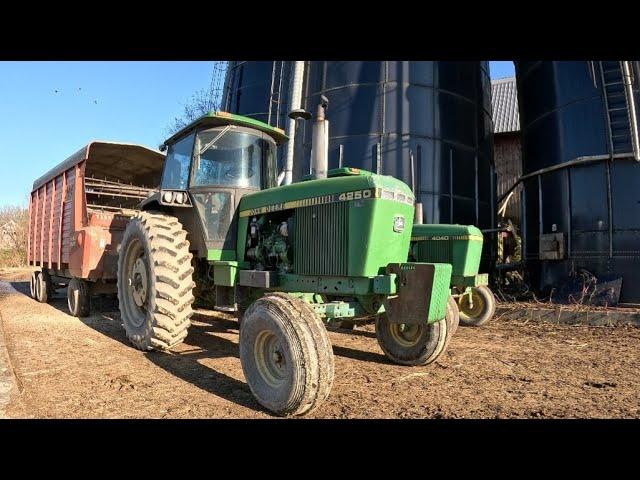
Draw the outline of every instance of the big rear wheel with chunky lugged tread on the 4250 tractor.
[[[168,350],[187,336],[194,269],[187,232],[177,218],[139,212],[118,258],[118,301],[127,337],[140,350]]]

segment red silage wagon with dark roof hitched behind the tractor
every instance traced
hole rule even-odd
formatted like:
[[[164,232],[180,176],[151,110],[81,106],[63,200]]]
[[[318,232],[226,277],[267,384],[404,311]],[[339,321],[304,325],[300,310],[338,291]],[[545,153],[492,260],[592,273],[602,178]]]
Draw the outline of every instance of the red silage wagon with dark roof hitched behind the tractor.
[[[29,202],[31,295],[68,286],[69,311],[86,316],[94,294],[115,293],[118,247],[138,203],[160,183],[164,154],[94,141],[33,184]]]

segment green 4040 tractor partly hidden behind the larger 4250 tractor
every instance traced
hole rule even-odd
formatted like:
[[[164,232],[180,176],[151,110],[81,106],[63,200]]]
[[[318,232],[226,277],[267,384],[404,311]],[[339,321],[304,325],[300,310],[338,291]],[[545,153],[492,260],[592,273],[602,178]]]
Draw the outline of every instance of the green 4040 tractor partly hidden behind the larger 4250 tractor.
[[[473,225],[415,224],[411,235],[410,261],[452,265],[452,296],[466,326],[480,326],[496,311],[489,277],[478,273],[482,243],[482,232]]]

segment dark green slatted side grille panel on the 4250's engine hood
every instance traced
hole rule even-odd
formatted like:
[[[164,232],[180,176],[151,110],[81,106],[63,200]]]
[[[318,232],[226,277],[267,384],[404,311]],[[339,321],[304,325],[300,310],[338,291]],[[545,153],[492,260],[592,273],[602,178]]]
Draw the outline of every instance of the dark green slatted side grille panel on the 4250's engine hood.
[[[328,203],[295,211],[294,272],[346,276],[349,204]]]

